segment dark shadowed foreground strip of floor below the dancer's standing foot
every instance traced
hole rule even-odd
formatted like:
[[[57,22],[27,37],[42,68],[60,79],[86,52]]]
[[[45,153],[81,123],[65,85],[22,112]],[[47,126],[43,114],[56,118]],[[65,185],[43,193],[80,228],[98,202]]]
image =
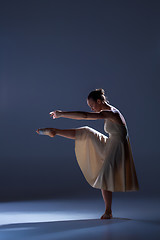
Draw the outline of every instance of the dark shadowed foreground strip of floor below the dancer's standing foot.
[[[149,225],[151,223],[151,225]],[[128,218],[29,222],[0,226],[0,239],[16,240],[159,240],[152,221]]]

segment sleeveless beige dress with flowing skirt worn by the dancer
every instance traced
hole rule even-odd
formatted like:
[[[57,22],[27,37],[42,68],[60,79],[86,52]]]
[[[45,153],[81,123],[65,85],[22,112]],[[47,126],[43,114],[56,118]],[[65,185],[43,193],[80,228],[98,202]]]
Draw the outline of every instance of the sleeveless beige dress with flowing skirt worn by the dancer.
[[[127,125],[105,119],[104,134],[84,126],[76,129],[75,154],[87,182],[111,192],[139,190]]]

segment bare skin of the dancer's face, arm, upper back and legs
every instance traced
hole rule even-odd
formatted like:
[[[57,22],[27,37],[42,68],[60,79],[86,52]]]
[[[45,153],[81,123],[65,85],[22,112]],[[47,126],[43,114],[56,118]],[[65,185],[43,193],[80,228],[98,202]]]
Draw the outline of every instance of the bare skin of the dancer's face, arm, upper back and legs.
[[[98,119],[110,119],[113,122],[116,122],[118,124],[126,124],[125,119],[117,109],[110,104],[108,104],[106,101],[102,101],[98,99],[97,101],[94,101],[93,99],[87,99],[87,104],[94,112],[82,112],[82,111],[72,111],[72,112],[65,112],[65,111],[53,111],[50,112],[50,116],[53,117],[53,119],[56,118],[70,118],[70,119],[76,119],[76,120],[98,120]],[[73,139],[75,140],[75,129],[56,129],[56,128],[45,128],[48,130],[47,135],[50,137],[55,137],[56,135]],[[39,134],[39,130],[37,129],[37,133]],[[105,203],[105,212],[101,216],[101,219],[108,219],[112,217],[112,192],[101,189],[103,200]]]

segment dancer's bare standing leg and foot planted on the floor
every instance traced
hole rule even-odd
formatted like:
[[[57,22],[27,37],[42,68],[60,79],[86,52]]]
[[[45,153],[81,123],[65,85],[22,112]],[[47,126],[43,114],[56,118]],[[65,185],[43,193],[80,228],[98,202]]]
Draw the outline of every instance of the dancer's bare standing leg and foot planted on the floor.
[[[112,192],[103,189],[101,191],[105,202],[105,213],[102,215],[101,219],[112,218]]]

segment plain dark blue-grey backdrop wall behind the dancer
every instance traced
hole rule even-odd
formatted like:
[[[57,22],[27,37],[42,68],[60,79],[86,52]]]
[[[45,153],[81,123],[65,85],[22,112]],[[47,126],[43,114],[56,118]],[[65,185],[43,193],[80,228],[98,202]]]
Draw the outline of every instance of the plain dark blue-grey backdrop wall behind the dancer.
[[[37,128],[103,121],[52,120],[51,110],[90,111],[104,88],[124,115],[140,191],[159,194],[160,2],[0,1],[0,200],[98,195],[74,141]],[[121,194],[121,193],[115,193]]]

